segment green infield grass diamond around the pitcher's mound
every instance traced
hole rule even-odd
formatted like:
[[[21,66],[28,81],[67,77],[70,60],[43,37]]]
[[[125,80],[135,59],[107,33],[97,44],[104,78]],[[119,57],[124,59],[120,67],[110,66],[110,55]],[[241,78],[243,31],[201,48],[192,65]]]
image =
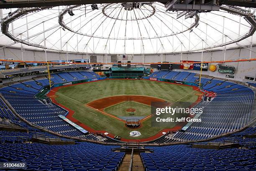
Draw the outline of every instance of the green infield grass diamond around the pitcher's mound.
[[[133,108],[136,111],[127,112],[126,110],[129,108]],[[129,101],[106,107],[104,111],[115,116],[147,116],[151,114],[151,106],[144,105],[139,102]]]

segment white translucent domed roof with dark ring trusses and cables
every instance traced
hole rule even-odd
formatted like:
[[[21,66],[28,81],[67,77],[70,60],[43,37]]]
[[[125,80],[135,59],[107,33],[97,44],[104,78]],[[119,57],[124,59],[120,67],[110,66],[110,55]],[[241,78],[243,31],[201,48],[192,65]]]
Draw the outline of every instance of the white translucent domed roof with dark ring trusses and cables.
[[[9,12],[10,9],[4,9],[3,17]],[[251,25],[243,17],[224,10],[177,19],[177,12],[166,11],[164,5],[158,2],[139,3],[137,6],[114,3],[37,8],[10,22],[8,34],[29,42],[32,46],[23,45],[29,49],[42,47],[97,54],[161,54],[202,48],[223,49],[223,43],[246,35],[250,28]],[[0,45],[21,46],[2,33],[0,39]],[[251,37],[239,44],[247,47],[250,42]],[[238,45],[227,45],[227,48],[232,47]]]

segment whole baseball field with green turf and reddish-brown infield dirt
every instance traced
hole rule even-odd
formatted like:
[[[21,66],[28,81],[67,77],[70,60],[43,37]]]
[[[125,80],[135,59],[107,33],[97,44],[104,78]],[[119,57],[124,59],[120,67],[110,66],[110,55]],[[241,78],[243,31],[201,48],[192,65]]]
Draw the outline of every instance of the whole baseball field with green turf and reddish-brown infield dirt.
[[[126,139],[142,139],[156,135],[162,127],[151,126],[151,102],[189,102],[198,100],[195,87],[137,79],[106,79],[97,82],[60,87],[55,100],[70,110],[79,123],[95,131],[119,135]],[[141,126],[127,128],[122,117],[140,117]],[[175,117],[175,116],[173,116]],[[173,128],[177,123],[170,123]],[[137,130],[139,137],[129,133]]]

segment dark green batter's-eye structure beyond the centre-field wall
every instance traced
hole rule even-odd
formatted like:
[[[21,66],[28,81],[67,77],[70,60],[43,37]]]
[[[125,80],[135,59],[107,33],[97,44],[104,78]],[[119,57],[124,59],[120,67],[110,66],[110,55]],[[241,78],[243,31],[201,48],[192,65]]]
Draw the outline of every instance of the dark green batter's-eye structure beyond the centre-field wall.
[[[110,78],[141,78],[144,75],[144,67],[112,67]]]

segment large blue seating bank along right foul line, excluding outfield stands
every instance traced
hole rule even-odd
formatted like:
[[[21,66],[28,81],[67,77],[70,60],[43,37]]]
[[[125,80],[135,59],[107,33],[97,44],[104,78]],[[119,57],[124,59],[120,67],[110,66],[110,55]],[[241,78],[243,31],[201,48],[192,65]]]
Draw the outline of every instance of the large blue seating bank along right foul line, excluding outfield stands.
[[[186,132],[177,132],[176,140],[200,140],[243,128],[253,119],[251,112],[254,92],[249,88],[219,93],[211,102],[200,102],[203,107],[199,118]]]

